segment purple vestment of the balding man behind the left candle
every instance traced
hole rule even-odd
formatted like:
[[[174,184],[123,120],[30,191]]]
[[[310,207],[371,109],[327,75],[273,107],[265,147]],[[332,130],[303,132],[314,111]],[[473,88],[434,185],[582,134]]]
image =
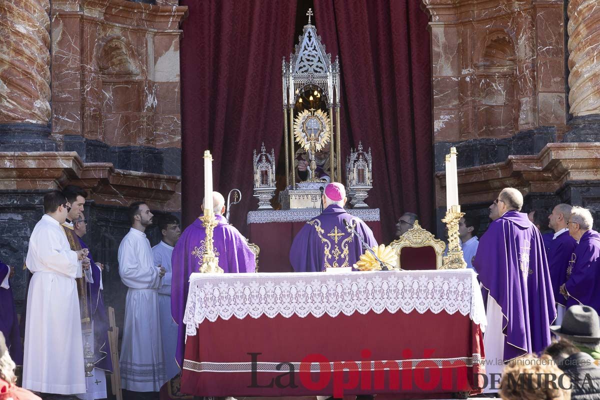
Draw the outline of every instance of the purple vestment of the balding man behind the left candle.
[[[248,247],[244,236],[232,225],[227,224],[223,215],[215,215],[217,226],[213,231],[213,245],[215,255],[219,258],[219,266],[225,273],[254,272],[256,258]],[[181,367],[185,353],[185,325],[182,323],[185,313],[185,303],[189,288],[190,275],[200,272],[202,265],[202,251],[206,228],[202,221],[196,219],[185,228],[179,237],[173,255],[171,256],[171,314],[178,324],[177,351],[175,359]]]

